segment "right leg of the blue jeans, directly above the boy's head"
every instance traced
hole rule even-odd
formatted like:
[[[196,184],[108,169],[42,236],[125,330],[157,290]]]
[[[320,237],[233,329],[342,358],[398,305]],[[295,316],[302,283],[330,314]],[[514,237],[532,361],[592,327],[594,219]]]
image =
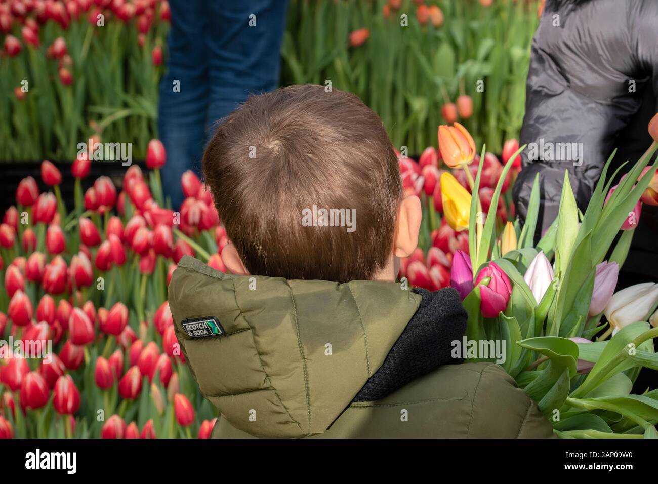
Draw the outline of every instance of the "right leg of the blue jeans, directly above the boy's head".
[[[209,136],[215,123],[249,94],[278,87],[287,4],[287,0],[209,1]],[[249,26],[251,15],[255,26]]]

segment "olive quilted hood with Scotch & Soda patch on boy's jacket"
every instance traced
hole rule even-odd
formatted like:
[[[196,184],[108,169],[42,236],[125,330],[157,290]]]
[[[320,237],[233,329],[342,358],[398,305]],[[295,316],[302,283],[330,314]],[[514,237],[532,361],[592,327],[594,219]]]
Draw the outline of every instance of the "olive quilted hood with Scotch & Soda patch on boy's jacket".
[[[421,296],[378,281],[233,276],[183,257],[168,288],[178,342],[201,392],[255,437],[324,432],[382,366]],[[184,320],[216,317],[220,335]]]

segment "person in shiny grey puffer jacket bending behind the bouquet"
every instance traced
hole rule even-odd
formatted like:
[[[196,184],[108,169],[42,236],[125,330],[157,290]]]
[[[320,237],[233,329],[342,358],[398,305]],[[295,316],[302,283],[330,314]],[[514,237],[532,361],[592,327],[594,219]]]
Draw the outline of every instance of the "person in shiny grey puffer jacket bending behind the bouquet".
[[[513,189],[523,219],[536,174],[538,229],[557,216],[565,169],[585,211],[613,149],[613,171],[651,144],[658,111],[657,0],[547,0],[532,40],[522,171]],[[619,176],[625,173],[622,169]],[[620,285],[655,281],[658,207],[644,204]],[[624,281],[624,282],[622,282]]]

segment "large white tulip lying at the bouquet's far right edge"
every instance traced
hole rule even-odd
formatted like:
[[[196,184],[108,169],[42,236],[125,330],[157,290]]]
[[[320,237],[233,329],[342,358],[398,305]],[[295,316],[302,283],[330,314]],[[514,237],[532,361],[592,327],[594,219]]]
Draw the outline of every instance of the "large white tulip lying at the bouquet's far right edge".
[[[649,311],[657,302],[658,284],[644,282],[615,292],[603,314],[611,327],[617,331],[631,323],[646,321]]]

